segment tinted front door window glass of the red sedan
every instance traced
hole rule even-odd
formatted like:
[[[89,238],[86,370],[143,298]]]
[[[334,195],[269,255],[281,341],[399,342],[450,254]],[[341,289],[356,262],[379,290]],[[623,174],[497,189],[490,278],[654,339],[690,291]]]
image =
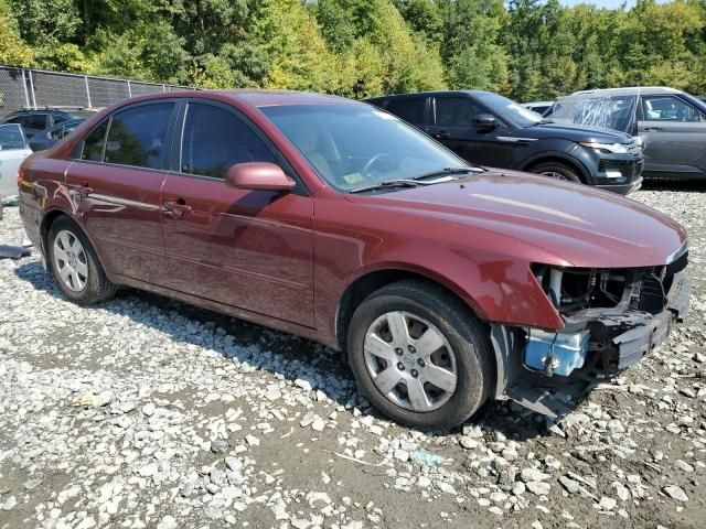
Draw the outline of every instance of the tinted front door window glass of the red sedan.
[[[277,163],[277,155],[234,112],[213,105],[190,104],[181,145],[181,171],[225,179],[243,162]]]

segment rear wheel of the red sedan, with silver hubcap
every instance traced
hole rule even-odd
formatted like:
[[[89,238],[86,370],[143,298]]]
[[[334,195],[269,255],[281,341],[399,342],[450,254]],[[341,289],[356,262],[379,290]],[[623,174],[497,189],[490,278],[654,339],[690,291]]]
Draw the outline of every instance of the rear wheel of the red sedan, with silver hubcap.
[[[85,234],[67,217],[57,218],[47,237],[47,260],[64,294],[79,304],[111,298],[116,285],[106,277]]]

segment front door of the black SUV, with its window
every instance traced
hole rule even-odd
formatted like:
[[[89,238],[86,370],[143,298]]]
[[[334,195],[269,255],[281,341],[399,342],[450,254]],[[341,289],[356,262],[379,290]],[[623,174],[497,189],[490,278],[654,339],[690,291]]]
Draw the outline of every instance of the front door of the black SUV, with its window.
[[[438,96],[434,101],[434,125],[429,136],[436,138],[471,163],[507,168],[512,163],[513,143],[507,141],[511,129],[495,116],[500,127],[477,129],[473,118],[490,114],[482,105],[460,96]]]

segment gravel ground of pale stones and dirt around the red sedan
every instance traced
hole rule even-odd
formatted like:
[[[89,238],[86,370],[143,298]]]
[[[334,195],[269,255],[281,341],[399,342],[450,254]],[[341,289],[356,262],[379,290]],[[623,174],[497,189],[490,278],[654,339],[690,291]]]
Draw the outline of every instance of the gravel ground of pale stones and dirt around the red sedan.
[[[692,312],[558,424],[410,431],[325,347],[136,291],[82,309],[0,260],[0,528],[706,527],[706,193],[632,196],[688,229]]]

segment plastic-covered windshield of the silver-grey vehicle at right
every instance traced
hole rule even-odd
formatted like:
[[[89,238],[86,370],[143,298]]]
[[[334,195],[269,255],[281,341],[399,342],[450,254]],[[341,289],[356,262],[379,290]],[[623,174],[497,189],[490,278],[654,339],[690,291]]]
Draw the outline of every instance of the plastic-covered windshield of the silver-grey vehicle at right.
[[[637,105],[637,96],[569,96],[557,101],[549,117],[563,123],[631,133]]]

